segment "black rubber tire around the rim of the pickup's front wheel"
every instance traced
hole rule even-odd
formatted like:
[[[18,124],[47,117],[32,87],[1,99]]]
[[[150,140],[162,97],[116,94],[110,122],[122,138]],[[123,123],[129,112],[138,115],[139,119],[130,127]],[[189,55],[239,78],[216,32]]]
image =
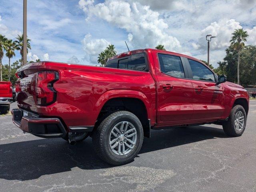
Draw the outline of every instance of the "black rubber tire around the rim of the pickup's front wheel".
[[[244,125],[242,126],[242,129],[240,131],[238,131],[235,126],[235,116],[238,111],[241,111],[244,115]],[[246,119],[247,117],[244,108],[241,105],[234,106],[230,112],[228,121],[222,124],[223,130],[226,133],[226,135],[234,137],[241,136],[246,127]]]

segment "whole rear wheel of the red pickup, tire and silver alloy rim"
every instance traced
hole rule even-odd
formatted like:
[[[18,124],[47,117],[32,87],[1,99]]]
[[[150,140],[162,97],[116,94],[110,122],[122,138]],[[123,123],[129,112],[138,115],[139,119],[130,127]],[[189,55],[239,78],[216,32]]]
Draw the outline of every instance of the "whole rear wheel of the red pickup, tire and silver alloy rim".
[[[143,128],[131,112],[113,112],[93,133],[92,143],[96,154],[112,165],[131,162],[142,146]]]

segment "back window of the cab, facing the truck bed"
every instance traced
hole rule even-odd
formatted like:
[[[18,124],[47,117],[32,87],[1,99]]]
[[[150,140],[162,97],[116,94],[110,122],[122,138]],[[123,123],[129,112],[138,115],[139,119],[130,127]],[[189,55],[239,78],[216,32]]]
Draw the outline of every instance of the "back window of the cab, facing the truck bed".
[[[144,53],[134,54],[126,58],[109,60],[106,63],[106,67],[136,71],[147,71]]]

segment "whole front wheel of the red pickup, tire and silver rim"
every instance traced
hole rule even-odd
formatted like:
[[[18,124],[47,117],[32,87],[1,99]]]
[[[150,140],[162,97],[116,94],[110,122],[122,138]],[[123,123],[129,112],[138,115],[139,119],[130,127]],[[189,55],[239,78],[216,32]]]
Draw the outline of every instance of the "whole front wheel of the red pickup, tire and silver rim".
[[[246,112],[241,105],[232,108],[228,121],[222,127],[228,136],[241,136],[246,126]]]

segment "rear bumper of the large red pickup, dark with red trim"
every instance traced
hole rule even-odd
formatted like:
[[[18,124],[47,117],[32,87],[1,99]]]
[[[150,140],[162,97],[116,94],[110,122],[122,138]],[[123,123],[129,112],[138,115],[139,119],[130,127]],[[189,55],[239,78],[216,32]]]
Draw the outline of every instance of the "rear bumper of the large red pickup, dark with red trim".
[[[67,135],[66,129],[58,118],[40,118],[32,112],[13,109],[12,121],[23,132],[28,132],[38,137],[65,138]]]

